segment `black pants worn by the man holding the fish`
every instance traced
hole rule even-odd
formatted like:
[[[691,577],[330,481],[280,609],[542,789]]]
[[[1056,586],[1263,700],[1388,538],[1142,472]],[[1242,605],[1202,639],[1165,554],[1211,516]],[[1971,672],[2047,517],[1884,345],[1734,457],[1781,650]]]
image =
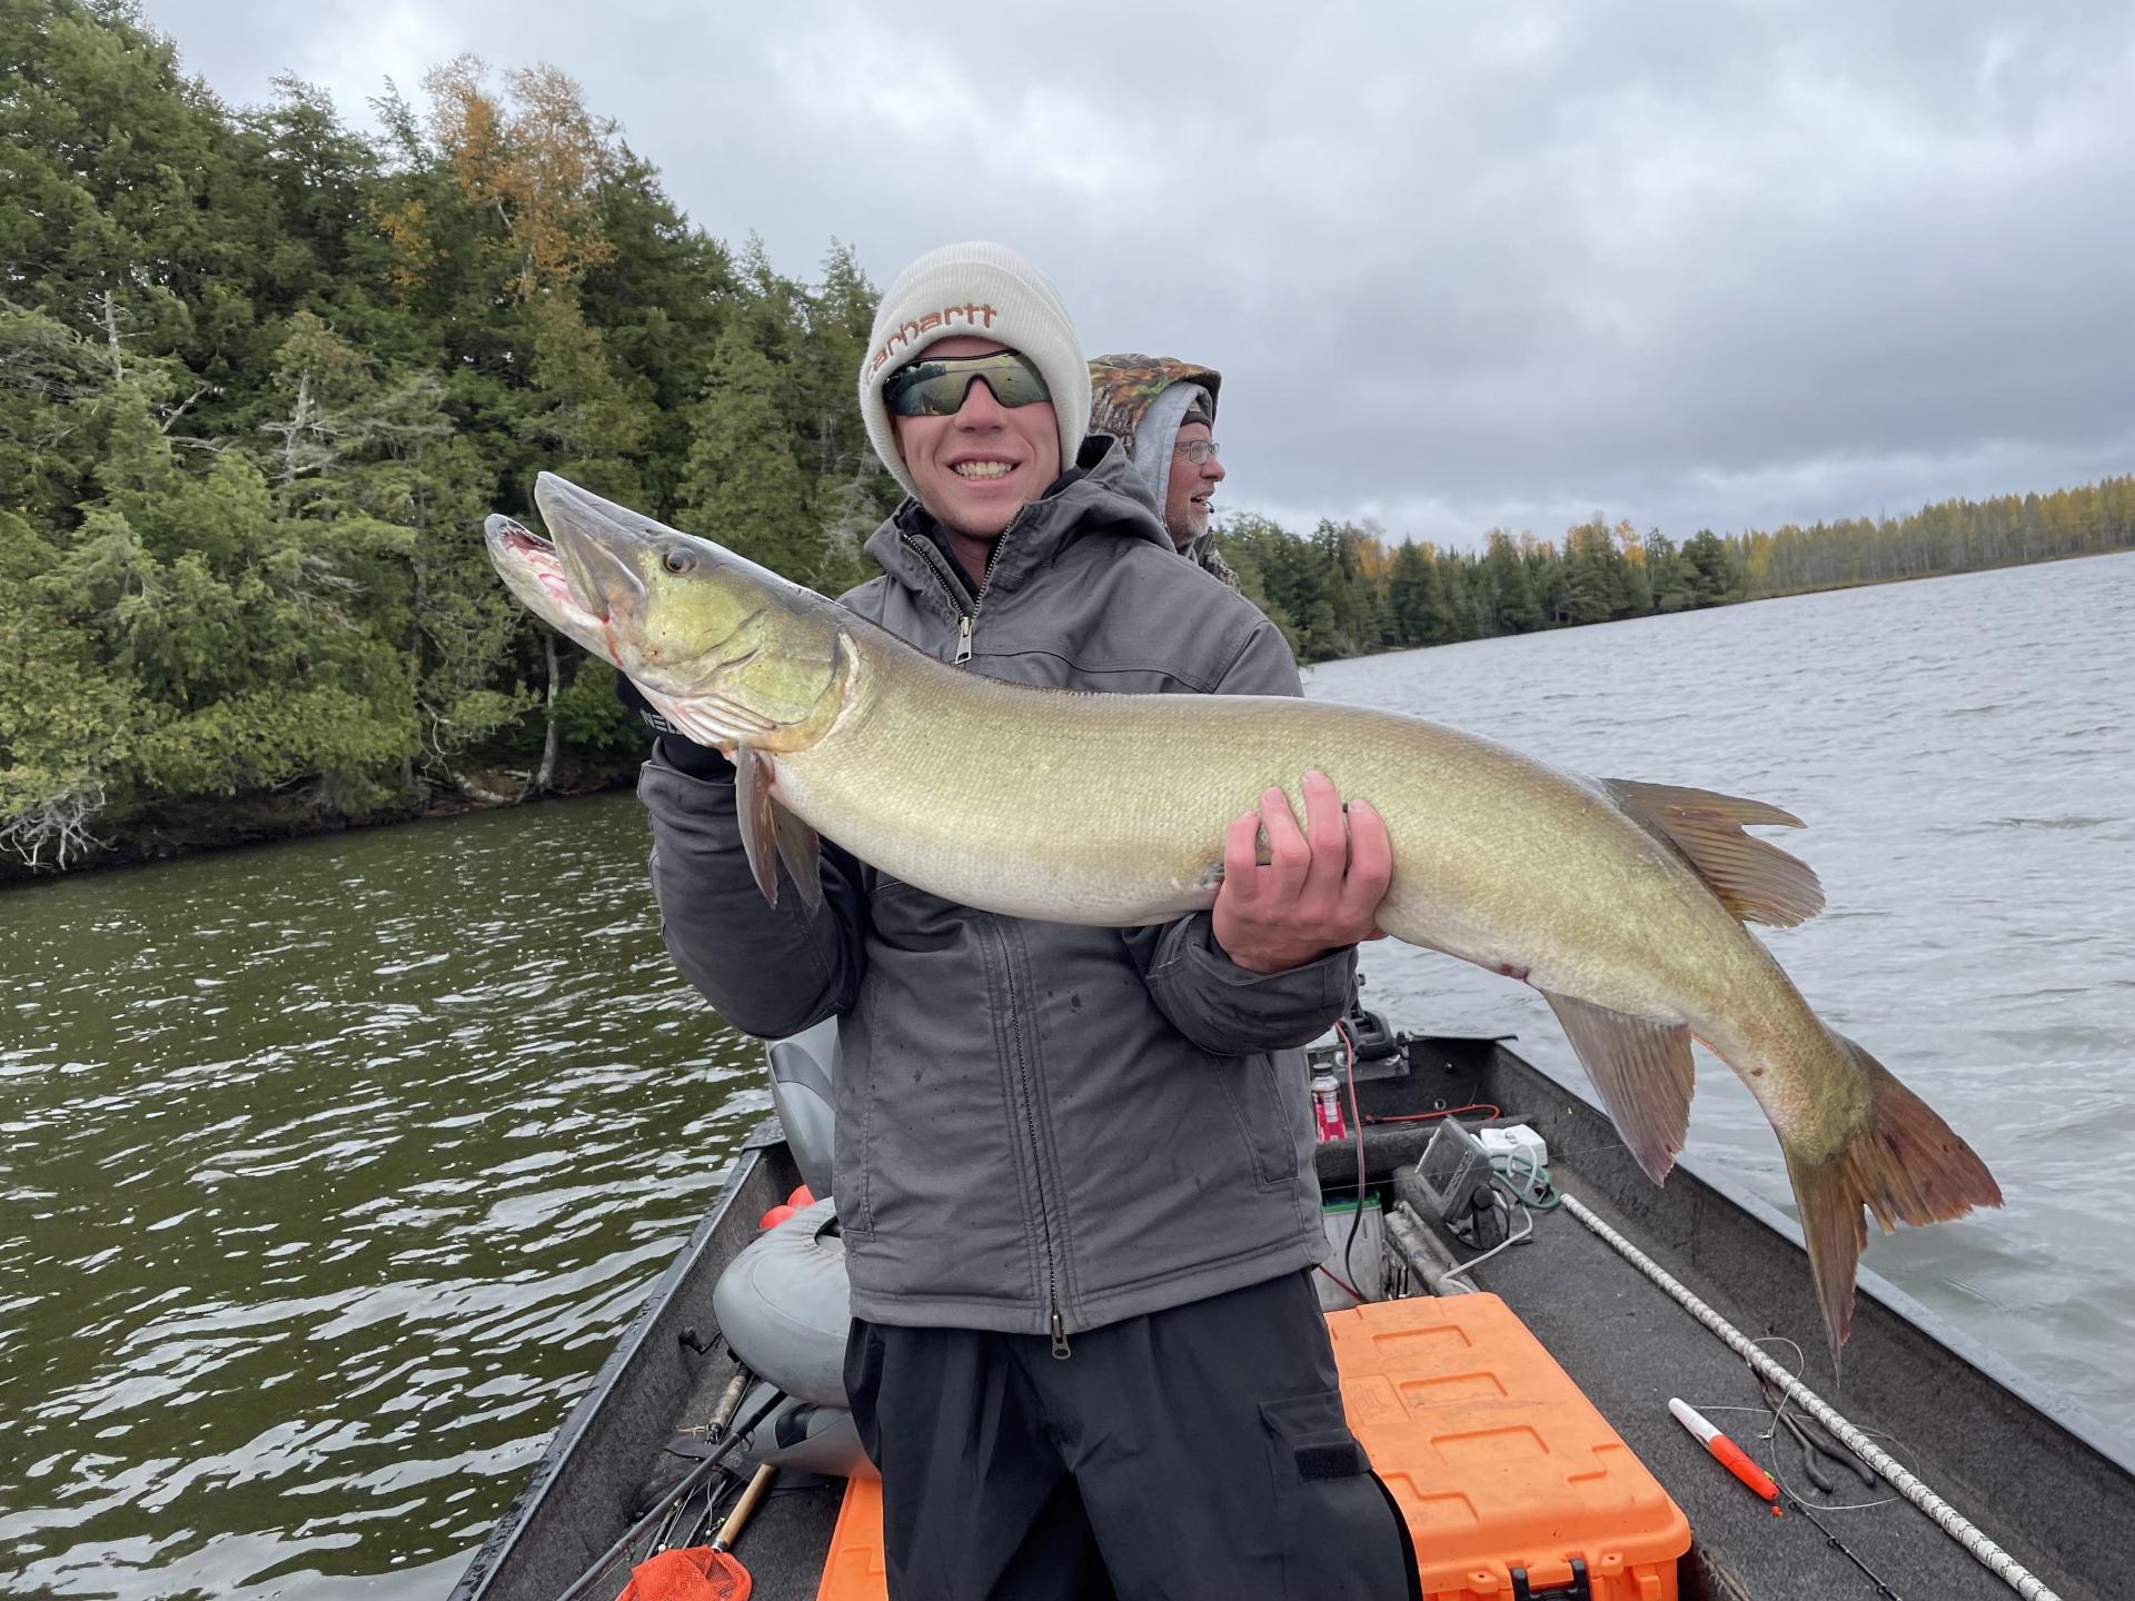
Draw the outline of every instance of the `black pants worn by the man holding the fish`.
[[[854,1319],[890,1601],[1401,1601],[1311,1274],[1038,1334]]]

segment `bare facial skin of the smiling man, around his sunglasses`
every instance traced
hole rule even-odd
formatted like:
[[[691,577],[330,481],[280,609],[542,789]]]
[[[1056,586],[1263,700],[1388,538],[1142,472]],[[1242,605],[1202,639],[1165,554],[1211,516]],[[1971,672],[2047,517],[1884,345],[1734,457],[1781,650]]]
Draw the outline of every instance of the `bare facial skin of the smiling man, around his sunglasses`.
[[[961,335],[937,339],[927,354],[986,356],[1006,348]],[[993,544],[1061,476],[1053,401],[1001,406],[982,378],[971,380],[954,416],[892,416],[890,427],[920,506],[950,534],[959,557]]]

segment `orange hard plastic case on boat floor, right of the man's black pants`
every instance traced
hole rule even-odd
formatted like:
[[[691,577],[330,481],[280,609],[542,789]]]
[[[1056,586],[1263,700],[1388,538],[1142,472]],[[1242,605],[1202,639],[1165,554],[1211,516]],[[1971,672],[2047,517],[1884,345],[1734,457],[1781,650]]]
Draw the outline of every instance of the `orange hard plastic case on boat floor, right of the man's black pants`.
[[[1426,1601],[1674,1601],[1691,1524],[1497,1296],[1328,1313],[1349,1430],[1394,1492]]]

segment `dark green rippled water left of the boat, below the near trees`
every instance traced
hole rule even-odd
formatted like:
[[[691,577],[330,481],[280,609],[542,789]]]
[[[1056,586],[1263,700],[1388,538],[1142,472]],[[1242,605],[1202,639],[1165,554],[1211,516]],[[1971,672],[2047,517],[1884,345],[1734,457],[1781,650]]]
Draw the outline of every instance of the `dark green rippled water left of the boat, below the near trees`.
[[[643,856],[615,796],[0,899],[0,1590],[444,1595],[756,1114]]]

